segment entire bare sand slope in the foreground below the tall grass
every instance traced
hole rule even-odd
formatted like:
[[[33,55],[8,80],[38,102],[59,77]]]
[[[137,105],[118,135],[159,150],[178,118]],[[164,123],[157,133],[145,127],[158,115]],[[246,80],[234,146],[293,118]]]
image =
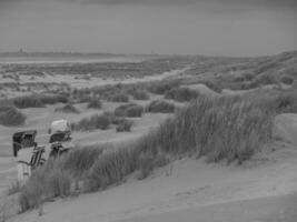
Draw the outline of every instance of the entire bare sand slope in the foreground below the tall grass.
[[[296,117],[277,120],[290,128]],[[146,180],[131,175],[106,191],[47,203],[42,216],[33,210],[11,222],[296,221],[296,143],[284,141],[242,165],[187,158]]]

